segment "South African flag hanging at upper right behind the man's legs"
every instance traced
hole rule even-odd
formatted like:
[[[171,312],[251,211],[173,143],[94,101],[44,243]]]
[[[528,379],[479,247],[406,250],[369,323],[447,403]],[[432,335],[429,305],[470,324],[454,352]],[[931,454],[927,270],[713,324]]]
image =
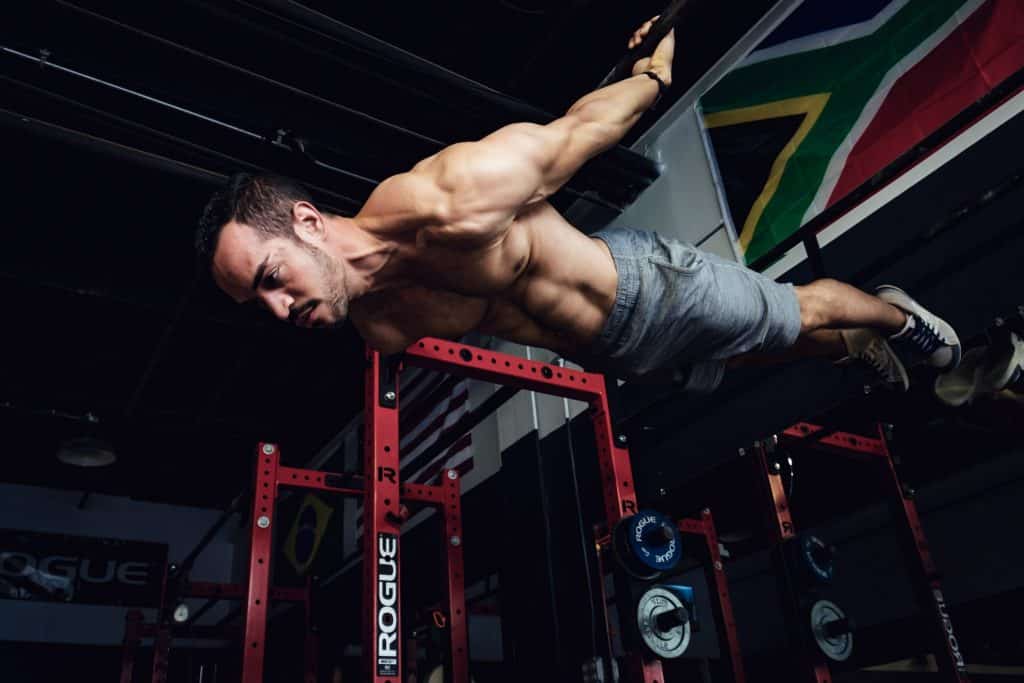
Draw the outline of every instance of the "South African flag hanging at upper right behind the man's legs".
[[[1024,67],[1024,0],[805,0],[700,101],[753,262]]]

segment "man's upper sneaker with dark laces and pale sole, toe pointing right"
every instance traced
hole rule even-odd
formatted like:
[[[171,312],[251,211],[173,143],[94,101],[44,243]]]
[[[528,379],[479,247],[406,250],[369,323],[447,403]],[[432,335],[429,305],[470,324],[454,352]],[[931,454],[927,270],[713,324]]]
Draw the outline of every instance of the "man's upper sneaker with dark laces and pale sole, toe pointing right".
[[[893,350],[911,361],[927,362],[940,370],[959,365],[961,343],[956,331],[898,287],[882,285],[874,294],[906,313],[906,325],[889,338]]]

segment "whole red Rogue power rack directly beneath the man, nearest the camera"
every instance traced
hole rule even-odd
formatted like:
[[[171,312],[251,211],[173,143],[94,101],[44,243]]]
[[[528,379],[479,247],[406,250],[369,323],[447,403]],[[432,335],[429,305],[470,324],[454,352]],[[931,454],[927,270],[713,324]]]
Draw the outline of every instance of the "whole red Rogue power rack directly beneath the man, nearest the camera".
[[[361,497],[365,501],[364,657],[369,680],[373,683],[400,683],[404,680],[398,569],[400,527],[406,516],[402,504],[419,503],[438,510],[443,516],[441,545],[447,567],[445,616],[451,641],[451,680],[454,683],[469,682],[460,477],[457,471],[446,470],[437,485],[408,484],[399,480],[399,378],[404,367],[445,372],[587,402],[597,443],[605,528],[614,528],[621,519],[637,512],[629,450],[625,439],[616,438],[612,432],[602,375],[430,338],[420,340],[399,357],[382,356],[368,349],[366,443],[361,476],[285,467],[281,464],[280,450],[275,444],[260,443],[258,446],[245,603],[243,683],[263,681],[267,601],[273,595],[269,581],[274,509],[282,487],[324,490]],[[713,599],[716,623],[720,625],[723,648],[729,650],[728,664],[734,679],[741,681],[742,665],[735,624],[711,514],[706,512],[699,519],[684,519],[679,523],[683,532],[701,535],[706,539],[708,564],[712,567],[709,584],[716,588]],[[133,626],[130,622],[129,631],[137,634],[137,625]],[[628,653],[627,669],[633,672],[632,680],[644,683],[664,681],[660,661],[646,657],[639,650]],[[307,681],[311,680],[307,674]]]

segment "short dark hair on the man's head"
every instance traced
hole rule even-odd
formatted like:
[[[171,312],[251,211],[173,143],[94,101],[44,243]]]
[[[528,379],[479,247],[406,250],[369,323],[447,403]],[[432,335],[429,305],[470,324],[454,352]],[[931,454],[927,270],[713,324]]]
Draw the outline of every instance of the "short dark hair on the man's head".
[[[300,183],[269,173],[236,173],[213,194],[203,209],[196,229],[196,252],[209,269],[217,250],[220,232],[234,220],[266,237],[294,237],[292,207],[296,202],[312,202]]]

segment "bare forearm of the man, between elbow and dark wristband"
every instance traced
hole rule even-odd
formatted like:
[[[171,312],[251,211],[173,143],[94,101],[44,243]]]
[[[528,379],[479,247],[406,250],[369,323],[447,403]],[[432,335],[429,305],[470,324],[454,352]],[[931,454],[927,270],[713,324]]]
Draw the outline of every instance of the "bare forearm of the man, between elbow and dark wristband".
[[[597,138],[604,151],[617,143],[644,112],[657,99],[658,84],[639,74],[594,90],[581,97],[566,113],[566,118]]]

